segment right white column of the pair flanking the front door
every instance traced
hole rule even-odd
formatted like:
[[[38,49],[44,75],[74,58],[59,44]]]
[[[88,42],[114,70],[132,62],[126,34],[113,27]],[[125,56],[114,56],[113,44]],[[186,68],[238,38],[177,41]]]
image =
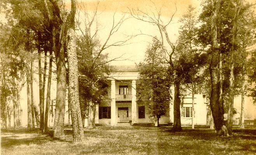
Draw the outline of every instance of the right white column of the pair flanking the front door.
[[[132,124],[137,122],[136,81],[132,80]]]

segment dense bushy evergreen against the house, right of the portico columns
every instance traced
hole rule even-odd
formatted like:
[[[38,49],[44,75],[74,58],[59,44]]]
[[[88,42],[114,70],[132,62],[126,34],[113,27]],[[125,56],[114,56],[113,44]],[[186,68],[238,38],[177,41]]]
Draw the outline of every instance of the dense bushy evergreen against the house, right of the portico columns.
[[[159,127],[159,119],[165,115],[169,107],[170,83],[163,51],[158,40],[148,46],[144,62],[139,64],[140,78],[137,94],[139,99],[146,99],[148,103],[149,118],[154,117],[155,126]]]

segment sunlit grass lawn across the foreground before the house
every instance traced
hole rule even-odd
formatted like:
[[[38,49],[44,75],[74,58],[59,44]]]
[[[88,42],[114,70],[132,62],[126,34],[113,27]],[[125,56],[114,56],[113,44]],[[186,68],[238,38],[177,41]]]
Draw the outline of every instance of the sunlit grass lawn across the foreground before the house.
[[[234,128],[234,135],[218,137],[208,127],[97,127],[84,130],[84,143],[70,143],[71,129],[65,140],[53,140],[39,131],[26,129],[1,131],[2,155],[255,155],[256,127]]]

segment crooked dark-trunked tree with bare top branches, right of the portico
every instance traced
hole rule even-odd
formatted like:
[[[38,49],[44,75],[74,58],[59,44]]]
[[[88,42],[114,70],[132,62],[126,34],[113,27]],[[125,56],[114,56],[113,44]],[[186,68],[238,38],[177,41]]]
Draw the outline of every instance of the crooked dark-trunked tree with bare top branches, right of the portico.
[[[178,72],[177,71],[177,66],[175,66],[175,61],[179,60],[179,53],[176,53],[175,50],[175,43],[173,43],[170,40],[170,34],[167,31],[167,27],[170,25],[170,23],[172,22],[172,19],[175,15],[175,13],[177,12],[177,7],[175,5],[175,9],[174,12],[170,15],[170,18],[167,22],[163,22],[163,20],[161,19],[162,15],[161,15],[161,9],[158,9],[156,7],[156,5],[154,4],[154,2],[152,2],[156,13],[151,12],[153,15],[150,15],[147,12],[144,12],[143,10],[139,10],[139,9],[130,9],[130,14],[132,15],[132,17],[134,17],[135,19],[138,19],[140,21],[143,22],[147,22],[149,24],[153,24],[154,26],[156,26],[159,30],[160,33],[160,39],[158,40],[158,42],[161,45],[161,48],[163,48],[163,51],[165,52],[165,55],[167,55],[167,57],[165,57],[165,60],[168,64],[168,74],[170,76],[172,76],[172,80],[170,84],[174,84],[174,124],[173,124],[173,130],[174,131],[180,131],[181,130],[181,110],[180,110],[180,106],[181,106],[181,98],[180,98],[180,84],[181,84],[181,79],[179,78],[182,74],[182,72]],[[157,39],[156,37],[149,35],[149,34],[144,34],[147,36],[151,36],[155,39]],[[167,42],[167,46],[165,46],[165,43]]]

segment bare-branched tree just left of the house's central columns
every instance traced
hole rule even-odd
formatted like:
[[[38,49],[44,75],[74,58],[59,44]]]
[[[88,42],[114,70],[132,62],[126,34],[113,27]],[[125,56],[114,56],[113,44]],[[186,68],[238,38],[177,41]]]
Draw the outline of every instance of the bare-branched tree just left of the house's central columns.
[[[99,2],[98,2],[99,3]],[[124,40],[118,40],[115,42],[111,42],[111,38],[113,38],[114,34],[119,30],[119,28],[121,27],[121,25],[124,23],[124,21],[126,21],[129,18],[126,18],[125,15],[123,15],[118,21],[116,21],[116,17],[115,14],[113,14],[113,21],[112,21],[112,27],[109,30],[109,33],[107,35],[107,38],[105,41],[103,41],[102,45],[98,46],[95,44],[95,42],[97,42],[97,36],[98,36],[98,32],[99,32],[99,28],[98,28],[98,22],[96,21],[96,17],[97,17],[97,9],[98,9],[98,3],[96,6],[95,11],[93,12],[92,17],[89,17],[88,12],[86,12],[86,7],[84,5],[81,5],[81,9],[84,9],[85,12],[84,13],[84,20],[82,20],[80,17],[80,13],[79,14],[79,18],[77,18],[77,23],[82,23],[84,24],[83,26],[81,26],[80,24],[77,24],[78,29],[81,33],[81,37],[78,38],[78,40],[85,40],[84,41],[84,49],[88,52],[89,56],[88,56],[88,63],[86,64],[86,69],[89,69],[89,73],[93,74],[93,75],[85,75],[83,76],[83,78],[86,78],[86,81],[89,83],[90,85],[90,89],[92,90],[92,92],[97,93],[97,87],[96,87],[96,83],[101,79],[98,70],[103,66],[103,65],[107,65],[109,62],[114,61],[114,60],[120,60],[122,59],[121,55],[120,57],[116,57],[114,59],[111,60],[104,60],[107,57],[103,58],[102,57],[102,53],[110,47],[117,47],[117,46],[123,46],[123,45],[127,45],[130,44],[128,43],[128,41],[130,39],[132,39],[134,36],[128,36],[128,38],[124,39]],[[94,26],[94,24],[96,25],[96,30],[93,31],[92,27]],[[85,27],[85,29],[83,29],[82,27]],[[98,43],[99,44],[99,43]],[[123,60],[123,59],[122,59]],[[83,73],[81,73],[83,74]],[[92,94],[92,96],[89,98],[88,100],[88,128],[92,129],[95,128],[95,110],[96,110],[96,102],[95,100],[93,100],[93,96],[95,94]]]

